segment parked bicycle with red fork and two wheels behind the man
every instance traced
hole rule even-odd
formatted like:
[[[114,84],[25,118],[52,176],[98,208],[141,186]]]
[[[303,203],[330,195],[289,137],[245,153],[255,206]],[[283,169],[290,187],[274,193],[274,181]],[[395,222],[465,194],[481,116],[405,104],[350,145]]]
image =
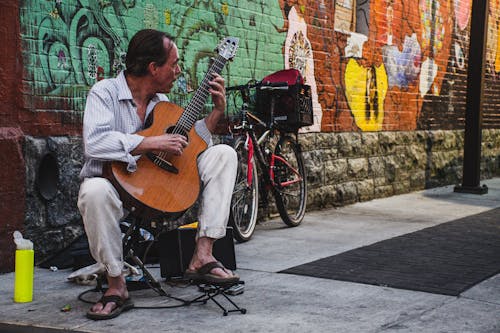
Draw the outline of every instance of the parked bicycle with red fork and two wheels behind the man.
[[[249,92],[254,88],[270,92],[268,119],[263,120],[255,112],[249,111]],[[226,91],[239,91],[243,100],[239,114],[240,124],[231,128],[239,164],[231,201],[230,225],[233,227],[234,238],[239,242],[246,242],[252,237],[257,224],[259,203],[269,205],[269,191],[273,194],[278,213],[286,225],[298,226],[305,215],[306,170],[298,142],[298,128],[283,128],[279,126],[279,117],[274,116],[278,94],[273,92],[288,89],[286,82],[226,88]],[[260,176],[262,179],[259,180]]]

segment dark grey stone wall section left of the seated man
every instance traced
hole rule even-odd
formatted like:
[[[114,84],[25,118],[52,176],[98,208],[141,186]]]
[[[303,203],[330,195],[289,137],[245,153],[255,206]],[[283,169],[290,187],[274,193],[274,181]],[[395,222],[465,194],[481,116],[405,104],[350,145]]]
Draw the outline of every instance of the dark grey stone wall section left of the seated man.
[[[40,261],[83,232],[77,209],[83,151],[80,137],[26,136],[25,237]]]

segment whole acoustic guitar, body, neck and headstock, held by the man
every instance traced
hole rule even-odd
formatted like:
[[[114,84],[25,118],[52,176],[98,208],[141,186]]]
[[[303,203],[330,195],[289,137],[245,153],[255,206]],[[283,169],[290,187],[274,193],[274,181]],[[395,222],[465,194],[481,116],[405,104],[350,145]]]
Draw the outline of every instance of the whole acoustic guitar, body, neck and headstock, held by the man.
[[[123,162],[111,162],[108,178],[133,215],[141,218],[179,216],[191,207],[200,192],[196,159],[206,148],[205,141],[196,133],[194,123],[209,96],[211,73],[220,74],[225,63],[234,57],[238,39],[228,37],[217,47],[218,54],[193,98],[185,109],[169,103],[158,103],[151,116],[153,122],[138,132],[142,136],[164,133],[184,135],[188,145],[181,156],[167,153],[147,153],[137,161],[137,170],[128,172]]]

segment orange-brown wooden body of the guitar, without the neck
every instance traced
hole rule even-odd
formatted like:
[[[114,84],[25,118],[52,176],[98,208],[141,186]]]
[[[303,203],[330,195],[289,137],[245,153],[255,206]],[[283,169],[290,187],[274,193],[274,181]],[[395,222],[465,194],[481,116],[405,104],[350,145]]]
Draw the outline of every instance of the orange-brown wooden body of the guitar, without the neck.
[[[153,110],[151,127],[137,134],[145,137],[162,135],[175,126],[183,111],[175,104],[160,102]],[[126,163],[111,162],[109,178],[132,214],[149,218],[177,216],[196,202],[200,192],[197,157],[207,144],[194,127],[183,134],[188,137],[183,154],[164,154],[164,160],[174,170],[163,168],[146,154],[137,161],[135,172],[128,172]]]

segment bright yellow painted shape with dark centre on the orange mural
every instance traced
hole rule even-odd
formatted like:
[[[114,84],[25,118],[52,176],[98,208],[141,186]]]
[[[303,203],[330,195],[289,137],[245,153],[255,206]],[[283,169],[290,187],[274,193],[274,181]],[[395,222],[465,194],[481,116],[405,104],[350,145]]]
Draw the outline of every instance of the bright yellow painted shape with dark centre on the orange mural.
[[[375,67],[376,86],[369,87],[370,68],[358,65],[355,59],[349,59],[345,70],[346,98],[354,116],[356,125],[364,132],[380,131],[384,122],[384,101],[388,90],[385,66]],[[375,112],[374,96],[377,93],[378,113]],[[369,112],[367,112],[367,97]]]

